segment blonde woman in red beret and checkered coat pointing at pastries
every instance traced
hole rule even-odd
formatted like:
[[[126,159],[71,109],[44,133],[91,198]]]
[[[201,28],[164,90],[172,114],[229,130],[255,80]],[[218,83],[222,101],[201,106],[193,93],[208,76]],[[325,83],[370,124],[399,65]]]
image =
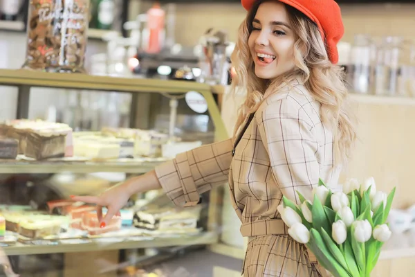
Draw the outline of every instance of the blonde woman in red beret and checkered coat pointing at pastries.
[[[282,196],[311,199],[322,178],[338,183],[356,134],[345,108],[336,44],[343,35],[333,0],[242,0],[248,10],[232,63],[236,87],[247,90],[234,139],[178,154],[100,197],[102,226],[133,193],[163,188],[178,206],[229,181],[241,233],[249,238],[243,276],[322,276],[304,244],[291,239],[277,207]]]

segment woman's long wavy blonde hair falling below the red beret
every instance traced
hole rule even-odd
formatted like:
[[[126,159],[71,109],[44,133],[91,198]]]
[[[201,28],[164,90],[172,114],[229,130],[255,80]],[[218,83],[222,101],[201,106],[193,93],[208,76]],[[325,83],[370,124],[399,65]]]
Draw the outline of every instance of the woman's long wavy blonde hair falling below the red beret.
[[[239,88],[247,90],[246,100],[239,109],[234,136],[246,116],[255,112],[266,97],[278,91],[284,84],[289,84],[294,78],[300,78],[315,100],[321,104],[322,123],[333,132],[335,163],[347,163],[356,140],[356,132],[354,116],[347,105],[348,93],[342,78],[344,73],[340,66],[330,62],[320,30],[313,21],[302,12],[284,4],[295,33],[295,69],[272,81],[255,75],[248,38],[252,21],[263,2],[264,0],[255,3],[239,27],[239,39],[231,57],[232,66],[237,72],[237,78],[232,80],[231,91],[237,93]]]

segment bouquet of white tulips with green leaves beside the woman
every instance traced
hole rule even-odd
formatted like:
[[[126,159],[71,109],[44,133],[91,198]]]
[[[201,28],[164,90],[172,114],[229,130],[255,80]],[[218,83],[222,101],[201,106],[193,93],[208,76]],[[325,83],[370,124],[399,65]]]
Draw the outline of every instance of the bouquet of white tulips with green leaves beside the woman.
[[[278,206],[288,233],[314,253],[335,277],[369,277],[380,249],[391,236],[386,224],[394,199],[376,191],[373,178],[360,185],[349,179],[343,191],[333,193],[320,179],[313,202],[297,192],[301,205],[283,197]]]

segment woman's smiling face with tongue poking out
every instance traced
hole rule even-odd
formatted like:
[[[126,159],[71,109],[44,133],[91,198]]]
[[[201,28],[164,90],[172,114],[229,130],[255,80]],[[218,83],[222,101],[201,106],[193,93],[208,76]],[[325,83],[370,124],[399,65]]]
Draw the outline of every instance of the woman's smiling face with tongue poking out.
[[[294,42],[284,4],[278,1],[261,3],[248,39],[255,75],[271,80],[294,69]]]

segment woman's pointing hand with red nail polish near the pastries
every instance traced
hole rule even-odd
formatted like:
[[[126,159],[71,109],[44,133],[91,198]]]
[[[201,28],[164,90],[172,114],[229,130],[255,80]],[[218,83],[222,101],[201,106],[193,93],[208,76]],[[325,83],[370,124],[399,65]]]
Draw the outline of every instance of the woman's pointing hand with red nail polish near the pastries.
[[[111,218],[119,213],[120,209],[127,204],[129,197],[131,197],[131,195],[124,184],[113,186],[100,196],[71,196],[75,201],[97,205],[97,215],[98,220],[101,222],[101,228],[104,228]],[[107,214],[104,218],[102,218],[103,207],[107,208]]]

